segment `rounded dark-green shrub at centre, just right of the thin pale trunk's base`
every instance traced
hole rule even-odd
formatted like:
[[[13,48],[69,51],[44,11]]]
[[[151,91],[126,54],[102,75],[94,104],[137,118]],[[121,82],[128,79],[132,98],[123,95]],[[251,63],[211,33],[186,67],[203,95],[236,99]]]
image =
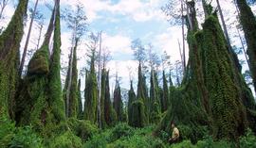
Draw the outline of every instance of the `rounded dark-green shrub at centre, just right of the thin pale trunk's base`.
[[[134,128],[129,126],[127,123],[119,123],[112,130],[111,140],[118,140],[121,137],[131,137],[134,133]]]

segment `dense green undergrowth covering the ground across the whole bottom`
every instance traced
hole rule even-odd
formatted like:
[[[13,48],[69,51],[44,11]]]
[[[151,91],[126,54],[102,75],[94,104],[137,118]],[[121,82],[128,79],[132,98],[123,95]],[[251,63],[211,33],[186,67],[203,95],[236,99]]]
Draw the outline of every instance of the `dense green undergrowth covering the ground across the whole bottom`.
[[[0,147],[5,148],[255,148],[256,136],[251,130],[236,142],[228,140],[214,141],[205,136],[192,144],[191,140],[182,137],[178,143],[170,145],[170,133],[161,132],[159,138],[152,135],[154,125],[134,128],[127,123],[118,123],[114,127],[99,130],[88,121],[69,119],[67,128],[58,128],[51,137],[37,134],[33,127],[15,127],[7,118],[1,119]],[[64,125],[62,125],[64,126]],[[181,132],[181,136],[186,133]]]

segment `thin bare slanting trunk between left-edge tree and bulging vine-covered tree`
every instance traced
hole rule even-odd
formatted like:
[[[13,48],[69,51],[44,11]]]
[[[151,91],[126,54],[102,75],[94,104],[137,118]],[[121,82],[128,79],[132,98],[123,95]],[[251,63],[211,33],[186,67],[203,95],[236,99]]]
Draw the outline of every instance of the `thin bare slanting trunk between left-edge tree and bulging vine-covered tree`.
[[[26,40],[26,43],[25,43],[25,47],[24,47],[23,55],[22,55],[22,60],[21,60],[20,68],[19,68],[19,76],[20,77],[22,75],[22,71],[23,71],[23,67],[24,67],[24,63],[25,63],[25,58],[26,58],[26,55],[27,55],[27,47],[28,47],[28,42],[29,42],[29,39],[30,39],[30,33],[31,33],[32,25],[33,25],[33,22],[34,22],[34,17],[35,17],[35,13],[36,13],[37,4],[38,4],[38,0],[36,0],[35,7],[33,9],[33,13],[32,13],[32,16],[31,16],[30,25],[29,25],[29,28],[28,28],[27,40]]]

